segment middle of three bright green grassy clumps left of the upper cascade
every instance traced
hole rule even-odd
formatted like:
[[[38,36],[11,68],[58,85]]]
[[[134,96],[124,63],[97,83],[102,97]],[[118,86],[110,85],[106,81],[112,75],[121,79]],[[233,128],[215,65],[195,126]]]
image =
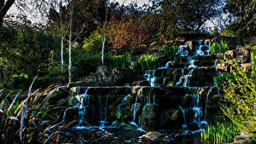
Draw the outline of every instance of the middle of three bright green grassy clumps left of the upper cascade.
[[[158,58],[156,55],[141,55],[137,61],[137,65],[140,66],[143,70],[155,69],[158,67],[157,64]]]

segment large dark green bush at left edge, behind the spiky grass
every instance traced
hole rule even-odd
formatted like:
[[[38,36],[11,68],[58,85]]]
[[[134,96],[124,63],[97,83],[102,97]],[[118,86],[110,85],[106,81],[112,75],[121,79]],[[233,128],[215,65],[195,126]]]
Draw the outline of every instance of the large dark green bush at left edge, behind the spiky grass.
[[[58,40],[59,37],[28,26],[1,27],[0,70],[4,87],[15,89],[20,82],[47,73],[50,51],[59,51]],[[24,87],[27,86],[26,83]]]

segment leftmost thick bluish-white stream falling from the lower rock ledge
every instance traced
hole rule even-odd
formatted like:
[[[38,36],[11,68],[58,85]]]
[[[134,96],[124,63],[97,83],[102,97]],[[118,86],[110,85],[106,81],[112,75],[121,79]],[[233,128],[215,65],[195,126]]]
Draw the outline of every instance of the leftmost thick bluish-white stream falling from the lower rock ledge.
[[[88,89],[85,89],[84,94],[81,95],[79,103],[79,126],[83,126],[83,123],[86,122],[86,104],[89,101],[89,95],[87,95]]]

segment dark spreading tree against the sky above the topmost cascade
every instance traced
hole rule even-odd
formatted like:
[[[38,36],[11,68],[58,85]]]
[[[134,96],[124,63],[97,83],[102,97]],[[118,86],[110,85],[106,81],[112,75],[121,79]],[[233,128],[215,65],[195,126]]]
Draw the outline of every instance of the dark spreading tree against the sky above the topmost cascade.
[[[221,0],[164,0],[161,14],[184,31],[199,31],[207,20],[220,13]]]

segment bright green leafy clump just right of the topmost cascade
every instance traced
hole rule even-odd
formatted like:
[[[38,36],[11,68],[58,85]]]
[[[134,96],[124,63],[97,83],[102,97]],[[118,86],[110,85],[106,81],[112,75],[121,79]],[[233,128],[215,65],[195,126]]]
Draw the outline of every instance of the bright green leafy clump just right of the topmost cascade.
[[[220,52],[224,52],[230,49],[230,46],[227,42],[221,42],[221,43],[211,43],[210,46],[210,53],[216,54]]]

